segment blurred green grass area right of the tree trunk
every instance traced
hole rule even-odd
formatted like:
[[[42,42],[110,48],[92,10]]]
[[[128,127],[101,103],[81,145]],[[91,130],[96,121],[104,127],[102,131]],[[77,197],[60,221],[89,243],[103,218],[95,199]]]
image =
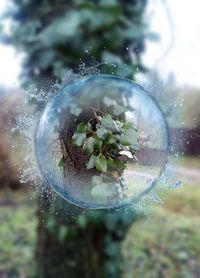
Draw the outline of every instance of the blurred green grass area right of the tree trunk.
[[[163,197],[164,205],[128,233],[124,278],[200,277],[200,188],[185,186]]]

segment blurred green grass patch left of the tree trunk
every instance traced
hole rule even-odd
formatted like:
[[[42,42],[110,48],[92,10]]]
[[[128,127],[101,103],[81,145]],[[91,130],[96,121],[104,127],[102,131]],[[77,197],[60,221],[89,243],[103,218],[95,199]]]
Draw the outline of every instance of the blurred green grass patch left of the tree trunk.
[[[7,191],[5,195],[7,200],[12,195],[22,202],[19,191]],[[32,277],[35,273],[35,208],[28,203],[18,204],[0,207],[0,277]]]

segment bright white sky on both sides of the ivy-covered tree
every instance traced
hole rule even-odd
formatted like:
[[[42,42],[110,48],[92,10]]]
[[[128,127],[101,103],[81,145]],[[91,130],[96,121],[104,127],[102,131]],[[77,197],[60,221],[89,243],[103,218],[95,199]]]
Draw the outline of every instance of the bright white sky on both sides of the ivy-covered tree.
[[[10,0],[0,0],[0,13]],[[144,64],[166,80],[174,74],[179,86],[200,87],[200,1],[149,0],[146,21],[158,42],[146,42]],[[170,16],[169,16],[170,15]],[[21,57],[13,47],[0,45],[0,84],[17,86]]]

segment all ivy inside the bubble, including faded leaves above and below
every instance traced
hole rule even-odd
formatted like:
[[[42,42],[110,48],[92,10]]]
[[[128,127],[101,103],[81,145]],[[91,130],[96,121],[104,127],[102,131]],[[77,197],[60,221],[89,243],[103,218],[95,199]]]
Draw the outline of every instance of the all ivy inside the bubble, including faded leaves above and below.
[[[103,98],[98,95],[89,98],[90,101],[87,95],[79,96],[76,103],[72,102],[69,105],[71,113],[69,122],[73,123],[73,128],[69,133],[69,124],[66,124],[59,131],[61,149],[65,150],[62,151],[58,166],[66,171],[68,156],[71,158],[74,152],[81,153],[85,160],[78,167],[74,165],[74,170],[76,167],[78,170],[81,167],[85,172],[95,169],[90,173],[91,182],[97,190],[104,188],[103,191],[107,191],[106,188],[111,184],[119,190],[125,189],[122,173],[130,159],[133,160],[136,151],[140,149],[137,129],[133,123],[127,121],[125,113],[133,111],[133,108],[128,104],[127,96],[116,95],[113,91],[108,91]],[[92,100],[93,98],[95,100]],[[65,113],[64,111],[64,117]],[[67,133],[64,132],[65,129]],[[79,150],[73,148],[71,154],[69,145],[75,145]],[[93,194],[96,193],[93,191]]]

